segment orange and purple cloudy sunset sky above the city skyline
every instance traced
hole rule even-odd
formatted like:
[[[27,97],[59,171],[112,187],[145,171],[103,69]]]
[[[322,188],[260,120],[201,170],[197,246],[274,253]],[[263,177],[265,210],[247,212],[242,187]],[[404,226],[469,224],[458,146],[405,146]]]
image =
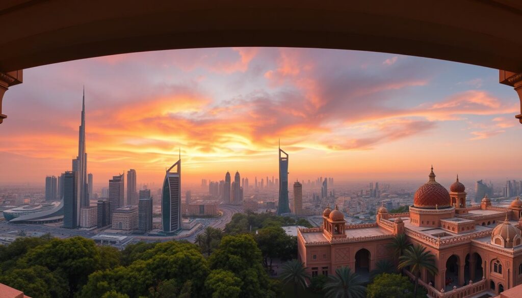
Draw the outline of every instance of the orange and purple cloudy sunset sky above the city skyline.
[[[220,48],[134,53],[25,69],[6,92],[0,184],[44,184],[78,153],[88,172],[159,183],[181,147],[185,182],[239,170],[290,179],[521,178],[516,92],[498,71],[384,53]]]

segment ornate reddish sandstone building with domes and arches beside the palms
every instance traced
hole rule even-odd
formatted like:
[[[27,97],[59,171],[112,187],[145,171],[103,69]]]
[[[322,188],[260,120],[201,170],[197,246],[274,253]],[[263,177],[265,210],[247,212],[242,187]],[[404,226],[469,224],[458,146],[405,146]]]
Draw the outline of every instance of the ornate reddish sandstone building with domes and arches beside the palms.
[[[498,294],[522,284],[522,200],[492,206],[486,195],[480,206],[470,207],[458,176],[448,189],[436,182],[432,167],[409,212],[389,213],[381,206],[375,222],[346,224],[337,206],[326,208],[322,227],[299,229],[299,259],[312,276],[333,274],[340,266],[365,276],[378,261],[393,259],[388,244],[405,234],[434,256],[437,275],[423,272],[420,278],[430,297]]]

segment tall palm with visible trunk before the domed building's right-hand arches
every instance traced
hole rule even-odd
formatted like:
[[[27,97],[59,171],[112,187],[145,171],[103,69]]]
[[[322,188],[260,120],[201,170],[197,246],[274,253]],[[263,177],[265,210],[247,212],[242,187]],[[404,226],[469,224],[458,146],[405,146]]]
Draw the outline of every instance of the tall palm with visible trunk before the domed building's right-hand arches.
[[[410,267],[411,273],[415,276],[415,290],[413,297],[417,297],[417,285],[419,284],[419,277],[421,271],[426,269],[432,275],[438,273],[437,266],[435,265],[435,256],[426,252],[426,248],[420,244],[416,244],[408,247],[404,251],[404,255],[399,258],[399,269]]]

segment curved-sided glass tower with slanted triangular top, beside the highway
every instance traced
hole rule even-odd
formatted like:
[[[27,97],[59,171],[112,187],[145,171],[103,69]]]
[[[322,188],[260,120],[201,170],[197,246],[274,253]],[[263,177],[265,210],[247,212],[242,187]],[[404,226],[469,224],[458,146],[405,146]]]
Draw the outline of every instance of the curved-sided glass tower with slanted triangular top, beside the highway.
[[[177,171],[171,172],[176,166]],[[161,224],[163,232],[172,233],[182,228],[181,226],[181,154],[180,159],[174,163],[163,182],[161,196]]]

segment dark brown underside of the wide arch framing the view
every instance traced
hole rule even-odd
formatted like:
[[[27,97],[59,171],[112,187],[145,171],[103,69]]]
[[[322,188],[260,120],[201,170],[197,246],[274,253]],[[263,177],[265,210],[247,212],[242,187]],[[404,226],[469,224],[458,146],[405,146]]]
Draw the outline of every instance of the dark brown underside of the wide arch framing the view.
[[[0,72],[130,52],[223,46],[349,49],[522,72],[522,4],[160,0],[0,5]]]

